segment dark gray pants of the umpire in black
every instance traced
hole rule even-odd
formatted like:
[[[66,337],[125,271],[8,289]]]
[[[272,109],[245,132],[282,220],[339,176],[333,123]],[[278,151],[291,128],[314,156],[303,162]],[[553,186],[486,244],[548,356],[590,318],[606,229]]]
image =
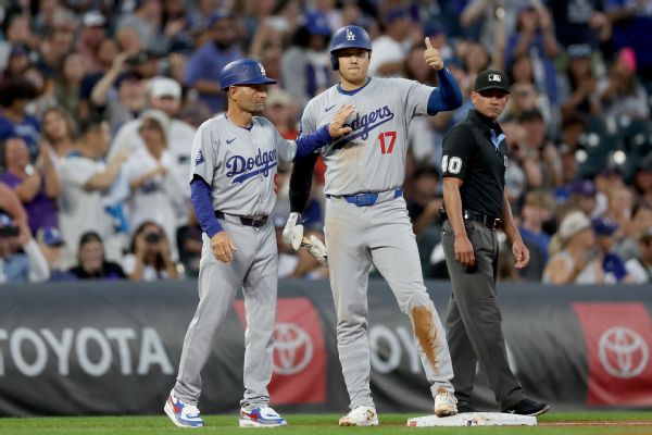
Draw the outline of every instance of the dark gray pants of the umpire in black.
[[[487,374],[489,386],[501,409],[525,396],[507,362],[501,331],[502,318],[496,293],[498,238],[496,232],[479,222],[465,222],[477,268],[467,271],[455,261],[455,236],[444,222],[442,246],[453,285],[448,309],[447,339],[453,361],[453,386],[461,403],[468,403],[475,381],[476,362]]]

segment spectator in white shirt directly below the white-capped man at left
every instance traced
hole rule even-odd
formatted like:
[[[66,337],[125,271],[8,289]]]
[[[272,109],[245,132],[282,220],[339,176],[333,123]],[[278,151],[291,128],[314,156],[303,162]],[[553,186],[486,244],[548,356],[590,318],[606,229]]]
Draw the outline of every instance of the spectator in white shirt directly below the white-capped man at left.
[[[170,117],[160,110],[150,109],[140,116],[139,133],[145,146],[135,149],[125,163],[125,177],[131,189],[129,225],[135,228],[149,221],[159,224],[170,241],[172,259],[177,261],[176,213],[185,201],[184,185],[179,185],[173,174],[175,162],[167,148]],[[187,210],[185,224],[188,222]]]

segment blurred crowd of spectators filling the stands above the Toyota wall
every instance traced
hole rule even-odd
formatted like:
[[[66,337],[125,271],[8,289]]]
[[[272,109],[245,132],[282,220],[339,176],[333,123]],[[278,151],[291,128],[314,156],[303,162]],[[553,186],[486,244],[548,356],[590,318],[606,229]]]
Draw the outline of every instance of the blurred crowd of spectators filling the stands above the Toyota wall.
[[[225,110],[222,67],[260,60],[279,82],[264,115],[296,138],[305,103],[337,83],[328,41],[347,24],[372,36],[371,75],[436,86],[430,37],[464,95],[410,126],[404,195],[426,278],[448,275],[442,136],[494,67],[512,83],[506,189],[531,254],[516,271],[503,247],[499,278],[652,282],[652,0],[4,0],[0,22],[0,284],[196,276],[190,149]],[[314,178],[305,225],[321,235],[323,165]],[[327,276],[278,249],[281,277]]]

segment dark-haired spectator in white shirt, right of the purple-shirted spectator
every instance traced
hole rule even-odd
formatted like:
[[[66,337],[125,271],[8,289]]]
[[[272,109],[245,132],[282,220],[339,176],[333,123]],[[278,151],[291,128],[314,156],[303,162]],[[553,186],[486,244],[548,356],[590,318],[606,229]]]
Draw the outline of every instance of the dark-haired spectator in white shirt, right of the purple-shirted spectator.
[[[68,261],[77,257],[79,238],[89,231],[97,232],[106,240],[108,258],[121,258],[122,243],[115,238],[113,220],[105,210],[105,198],[120,179],[128,152],[118,152],[105,163],[103,157],[109,140],[109,124],[101,119],[90,119],[82,125],[77,150],[61,163],[59,227],[66,241]]]

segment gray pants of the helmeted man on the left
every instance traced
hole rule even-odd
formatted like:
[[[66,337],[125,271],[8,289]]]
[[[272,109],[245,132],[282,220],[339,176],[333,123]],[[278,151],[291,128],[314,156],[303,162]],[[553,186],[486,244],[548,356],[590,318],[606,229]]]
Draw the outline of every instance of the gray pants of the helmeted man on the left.
[[[188,326],[174,394],[196,405],[201,394],[201,369],[215,345],[215,335],[236,293],[242,288],[247,331],[244,332],[244,396],[240,406],[251,409],[269,402],[274,322],[278,286],[276,233],[271,222],[260,228],[220,221],[238,248],[234,259],[215,259],[204,234],[199,265],[199,304]],[[214,386],[218,388],[220,386]]]

